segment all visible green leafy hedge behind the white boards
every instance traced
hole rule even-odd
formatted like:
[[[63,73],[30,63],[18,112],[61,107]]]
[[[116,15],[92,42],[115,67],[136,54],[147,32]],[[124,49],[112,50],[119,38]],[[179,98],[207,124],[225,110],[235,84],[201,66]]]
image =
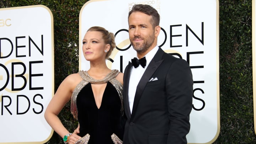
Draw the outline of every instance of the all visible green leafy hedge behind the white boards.
[[[79,70],[79,12],[87,0],[1,0],[0,8],[45,5],[54,17],[55,90]],[[219,0],[220,134],[214,144],[256,143],[252,94],[252,1]],[[70,132],[70,103],[59,118]],[[54,132],[47,144],[63,144]]]

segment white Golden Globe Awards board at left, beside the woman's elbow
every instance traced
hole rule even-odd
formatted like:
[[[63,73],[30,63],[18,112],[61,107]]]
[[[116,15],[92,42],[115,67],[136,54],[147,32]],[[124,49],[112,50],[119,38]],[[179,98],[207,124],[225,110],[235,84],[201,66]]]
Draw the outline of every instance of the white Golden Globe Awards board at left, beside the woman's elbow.
[[[0,143],[46,143],[54,93],[53,16],[43,5],[0,9]]]

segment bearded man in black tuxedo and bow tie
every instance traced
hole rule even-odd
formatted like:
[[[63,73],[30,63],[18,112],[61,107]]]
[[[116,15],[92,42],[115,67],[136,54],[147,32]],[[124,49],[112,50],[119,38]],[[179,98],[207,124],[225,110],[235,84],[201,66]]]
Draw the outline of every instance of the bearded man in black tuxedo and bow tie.
[[[124,71],[123,144],[187,143],[192,73],[185,60],[157,46],[159,21],[149,5],[134,5],[129,12],[129,38],[139,60],[132,59]]]

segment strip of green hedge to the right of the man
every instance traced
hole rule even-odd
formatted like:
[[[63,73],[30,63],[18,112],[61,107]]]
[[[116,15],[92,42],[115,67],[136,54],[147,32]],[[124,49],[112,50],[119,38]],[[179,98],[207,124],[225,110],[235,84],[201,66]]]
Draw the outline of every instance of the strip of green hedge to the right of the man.
[[[219,1],[220,134],[216,143],[256,143],[252,94],[252,1]]]

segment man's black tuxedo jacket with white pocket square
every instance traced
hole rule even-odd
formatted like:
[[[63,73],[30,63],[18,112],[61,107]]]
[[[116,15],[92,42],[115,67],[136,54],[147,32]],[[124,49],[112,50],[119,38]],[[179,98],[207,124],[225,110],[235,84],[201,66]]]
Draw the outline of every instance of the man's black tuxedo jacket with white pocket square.
[[[127,116],[123,144],[184,144],[190,130],[193,79],[186,60],[161,48],[139,81],[129,108],[128,89],[132,63],[124,70],[124,111]],[[158,80],[149,81],[151,78]]]

